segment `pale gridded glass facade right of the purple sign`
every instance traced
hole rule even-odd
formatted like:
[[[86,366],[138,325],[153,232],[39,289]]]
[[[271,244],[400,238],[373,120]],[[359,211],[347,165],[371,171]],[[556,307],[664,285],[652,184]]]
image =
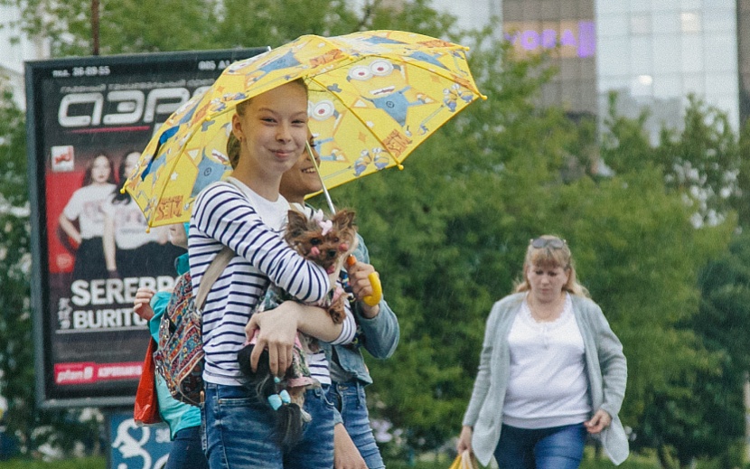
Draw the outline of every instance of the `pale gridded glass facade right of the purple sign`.
[[[652,138],[680,128],[690,94],[740,122],[736,0],[595,0],[596,80],[600,119],[607,95],[617,110],[650,109]]]

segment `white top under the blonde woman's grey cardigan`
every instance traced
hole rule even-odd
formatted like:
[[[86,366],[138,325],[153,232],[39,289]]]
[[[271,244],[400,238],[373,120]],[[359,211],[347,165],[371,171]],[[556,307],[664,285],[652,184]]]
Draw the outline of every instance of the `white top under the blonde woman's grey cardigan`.
[[[519,428],[548,428],[584,422],[591,412],[584,340],[570,295],[562,314],[538,323],[526,301],[508,335],[511,376],[502,423]]]

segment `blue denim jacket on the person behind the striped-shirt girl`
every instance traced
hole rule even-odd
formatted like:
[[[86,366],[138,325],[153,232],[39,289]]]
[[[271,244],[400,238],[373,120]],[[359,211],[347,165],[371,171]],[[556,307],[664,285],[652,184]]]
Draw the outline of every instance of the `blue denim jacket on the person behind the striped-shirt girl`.
[[[354,250],[354,257],[360,262],[370,264],[370,253],[364,244],[364,240],[358,234],[359,244]],[[387,359],[396,351],[400,329],[396,314],[390,309],[385,299],[380,300],[380,313],[371,318],[365,318],[361,314],[359,303],[354,305],[354,317],[361,328],[361,345],[377,359]],[[321,342],[323,351],[329,361],[333,360],[333,349],[336,350],[338,362],[344,371],[352,373],[362,384],[372,384],[370,372],[367,370],[364,358],[359,346],[331,345]]]

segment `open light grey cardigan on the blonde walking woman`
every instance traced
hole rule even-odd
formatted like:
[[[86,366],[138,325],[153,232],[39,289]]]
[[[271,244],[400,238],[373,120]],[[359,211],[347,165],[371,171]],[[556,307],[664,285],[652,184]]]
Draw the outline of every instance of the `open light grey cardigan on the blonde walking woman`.
[[[508,334],[525,295],[518,293],[502,298],[492,306],[487,318],[479,372],[463,422],[463,425],[473,427],[473,453],[483,465],[490,463],[500,441],[502,405],[511,371]],[[582,296],[570,296],[573,314],[584,339],[591,407],[602,408],[612,417],[612,424],[598,438],[612,462],[621,464],[630,451],[623,424],[617,417],[623,405],[627,381],[623,344],[612,332],[598,305]]]

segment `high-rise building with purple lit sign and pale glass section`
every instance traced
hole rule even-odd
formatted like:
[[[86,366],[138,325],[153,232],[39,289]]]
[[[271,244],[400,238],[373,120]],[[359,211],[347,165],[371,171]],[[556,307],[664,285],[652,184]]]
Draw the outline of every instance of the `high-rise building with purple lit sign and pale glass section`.
[[[750,28],[738,24],[750,26],[750,0],[503,0],[502,18],[517,52],[547,49],[558,67],[542,105],[601,124],[615,91],[618,114],[649,109],[654,141],[662,126],[680,128],[689,94],[735,129],[748,114]]]

